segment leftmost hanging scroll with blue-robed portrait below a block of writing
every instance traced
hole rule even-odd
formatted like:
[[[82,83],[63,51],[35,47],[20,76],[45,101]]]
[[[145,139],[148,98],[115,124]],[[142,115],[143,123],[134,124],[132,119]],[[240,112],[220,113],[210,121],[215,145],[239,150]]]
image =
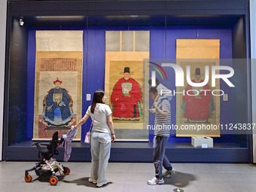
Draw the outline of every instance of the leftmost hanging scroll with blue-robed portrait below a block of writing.
[[[82,66],[82,31],[36,32],[33,139],[66,134],[81,119]]]

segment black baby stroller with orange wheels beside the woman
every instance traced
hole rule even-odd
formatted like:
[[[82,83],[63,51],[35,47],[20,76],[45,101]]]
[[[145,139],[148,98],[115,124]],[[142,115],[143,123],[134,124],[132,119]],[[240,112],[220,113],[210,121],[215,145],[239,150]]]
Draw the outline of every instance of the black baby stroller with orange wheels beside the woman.
[[[58,155],[59,151],[56,148],[61,144],[62,141],[59,141],[58,132],[53,134],[53,139],[50,141],[49,144],[41,144],[47,146],[47,148],[41,148],[39,145],[41,142],[37,142],[34,145],[38,148],[38,157],[41,157],[41,162],[36,163],[32,169],[27,169],[25,171],[25,181],[30,182],[32,181],[32,176],[29,175],[29,172],[35,170],[35,174],[38,177],[50,177],[50,184],[56,185],[58,183],[58,178],[56,176],[56,172],[59,171],[63,173],[63,175],[69,175],[70,169],[66,166],[63,166],[55,159],[51,158],[54,154]]]

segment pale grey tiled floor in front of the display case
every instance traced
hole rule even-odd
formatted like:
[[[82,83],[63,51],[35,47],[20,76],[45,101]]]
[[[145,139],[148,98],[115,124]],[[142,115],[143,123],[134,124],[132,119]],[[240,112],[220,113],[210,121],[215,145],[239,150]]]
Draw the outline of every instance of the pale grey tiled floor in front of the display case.
[[[51,186],[47,179],[24,181],[25,169],[32,168],[34,162],[0,162],[0,191],[162,192],[175,188],[184,192],[256,191],[256,166],[251,164],[172,163],[176,174],[166,178],[166,184],[150,186],[147,181],[154,177],[153,163],[109,163],[108,184],[101,188],[87,181],[90,163],[63,164],[71,169],[70,175],[58,176],[58,184]],[[35,172],[30,175],[37,178]]]

